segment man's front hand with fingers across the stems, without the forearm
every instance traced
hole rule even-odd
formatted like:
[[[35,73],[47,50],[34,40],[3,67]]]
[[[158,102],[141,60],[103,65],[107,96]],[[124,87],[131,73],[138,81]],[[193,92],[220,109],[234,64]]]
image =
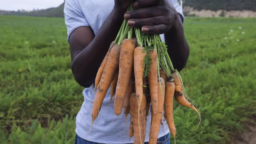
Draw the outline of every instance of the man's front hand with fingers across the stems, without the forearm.
[[[129,26],[142,28],[144,33],[163,34],[179,22],[178,13],[168,0],[135,0],[133,6],[136,10],[126,12],[124,18]]]

